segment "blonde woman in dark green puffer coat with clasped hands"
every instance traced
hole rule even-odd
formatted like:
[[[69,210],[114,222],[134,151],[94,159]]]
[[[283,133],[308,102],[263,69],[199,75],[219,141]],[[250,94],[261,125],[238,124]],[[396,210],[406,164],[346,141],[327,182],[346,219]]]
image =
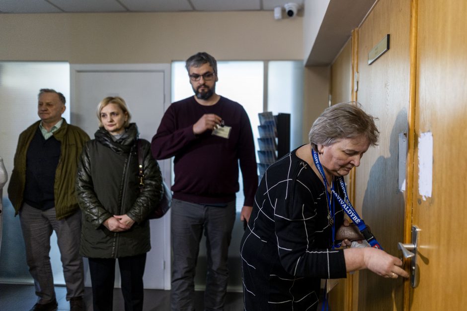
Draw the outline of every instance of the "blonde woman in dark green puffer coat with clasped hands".
[[[97,117],[100,127],[84,145],[78,165],[80,253],[89,259],[94,311],[112,310],[116,259],[125,310],[143,310],[143,273],[151,249],[148,216],[162,196],[162,178],[151,144],[138,140],[122,98],[104,98]],[[138,152],[144,163],[142,188]]]

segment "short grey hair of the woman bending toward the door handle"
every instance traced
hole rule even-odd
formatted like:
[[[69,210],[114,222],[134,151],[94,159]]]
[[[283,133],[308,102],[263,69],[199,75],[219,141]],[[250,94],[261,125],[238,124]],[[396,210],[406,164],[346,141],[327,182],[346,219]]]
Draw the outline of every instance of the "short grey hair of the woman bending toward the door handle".
[[[311,147],[330,146],[337,140],[365,136],[370,145],[378,145],[380,132],[375,125],[375,118],[365,113],[356,102],[340,103],[326,108],[311,125]]]

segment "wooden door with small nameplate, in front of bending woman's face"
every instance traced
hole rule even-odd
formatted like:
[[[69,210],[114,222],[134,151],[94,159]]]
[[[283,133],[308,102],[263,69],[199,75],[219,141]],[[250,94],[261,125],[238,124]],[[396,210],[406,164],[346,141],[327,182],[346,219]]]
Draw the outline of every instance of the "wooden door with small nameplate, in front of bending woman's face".
[[[409,103],[410,1],[381,0],[358,30],[357,101],[379,118],[379,145],[363,156],[355,174],[355,207],[382,247],[399,256],[404,233],[404,193],[398,188],[398,136],[407,132]],[[368,64],[368,53],[387,34],[390,48]],[[402,165],[402,169],[404,166]],[[351,310],[400,311],[403,280],[382,278],[368,270],[353,276]]]

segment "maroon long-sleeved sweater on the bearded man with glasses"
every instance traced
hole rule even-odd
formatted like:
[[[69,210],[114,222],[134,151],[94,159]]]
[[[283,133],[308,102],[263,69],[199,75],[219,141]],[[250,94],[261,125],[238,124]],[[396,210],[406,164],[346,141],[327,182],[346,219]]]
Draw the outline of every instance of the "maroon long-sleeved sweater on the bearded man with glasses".
[[[204,114],[216,114],[231,126],[228,139],[208,130],[193,133]],[[227,203],[238,191],[238,162],[243,177],[244,205],[253,206],[258,184],[251,124],[243,107],[225,97],[203,106],[194,97],[172,103],[151,143],[157,160],[174,158],[173,197],[198,204]]]

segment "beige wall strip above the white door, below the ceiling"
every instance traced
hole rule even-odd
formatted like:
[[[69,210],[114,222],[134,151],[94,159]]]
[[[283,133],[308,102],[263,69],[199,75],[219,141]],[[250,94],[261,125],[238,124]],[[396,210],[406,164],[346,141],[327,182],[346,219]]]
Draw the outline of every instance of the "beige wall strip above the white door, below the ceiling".
[[[1,61],[303,60],[302,18],[271,11],[2,14]]]

